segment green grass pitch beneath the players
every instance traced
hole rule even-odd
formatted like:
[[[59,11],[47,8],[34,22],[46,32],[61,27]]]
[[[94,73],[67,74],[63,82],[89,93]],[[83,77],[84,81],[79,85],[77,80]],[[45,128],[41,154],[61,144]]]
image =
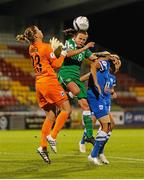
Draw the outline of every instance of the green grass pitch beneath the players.
[[[36,153],[39,130],[0,131],[0,178],[144,178],[144,130],[114,130],[105,149],[110,164],[103,166],[88,162],[91,144],[87,144],[86,154],[79,152],[82,133],[62,130],[57,138],[58,153],[49,149],[49,165]]]

